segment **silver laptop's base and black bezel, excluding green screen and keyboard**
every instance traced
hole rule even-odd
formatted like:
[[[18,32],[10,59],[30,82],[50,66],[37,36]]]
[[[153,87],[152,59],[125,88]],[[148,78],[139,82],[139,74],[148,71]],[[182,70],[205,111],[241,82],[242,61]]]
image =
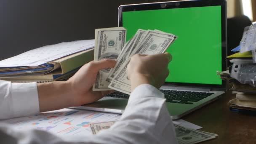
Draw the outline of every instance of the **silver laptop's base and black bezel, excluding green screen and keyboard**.
[[[159,5],[159,6],[158,6]],[[152,10],[152,7],[156,7],[159,9],[160,7],[166,7],[166,5],[170,5],[170,7],[175,8],[184,8],[187,5],[194,5],[194,7],[200,6],[211,6],[211,5],[220,5],[221,6],[221,34],[224,35],[222,37],[221,42],[221,59],[222,59],[222,69],[226,69],[227,61],[226,61],[226,53],[227,53],[227,44],[226,44],[226,1],[222,0],[221,2],[216,0],[192,0],[192,1],[175,1],[175,2],[163,2],[163,3],[147,3],[147,4],[136,4],[136,5],[120,5],[118,8],[118,18],[119,18],[119,26],[122,25],[122,12],[123,11],[140,11]],[[185,6],[184,6],[185,5]],[[128,9],[128,10],[127,10]],[[153,8],[154,9],[154,8]],[[178,36],[179,37],[179,36]],[[178,38],[179,40],[179,38]],[[170,74],[172,70],[170,71]],[[201,93],[213,93],[211,96],[205,97],[200,101],[193,101],[192,104],[181,104],[176,101],[173,102],[166,102],[166,106],[168,111],[171,115],[172,119],[179,119],[180,117],[187,115],[188,113],[203,107],[204,105],[211,103],[212,101],[218,99],[221,94],[223,94],[227,89],[227,83],[222,81],[221,85],[204,85],[204,84],[191,84],[191,83],[165,83],[161,88],[161,90],[172,90],[172,91],[194,91],[194,92],[201,92]],[[175,101],[175,100],[173,100]],[[87,110],[94,110],[94,111],[101,111],[101,112],[112,112],[112,113],[123,113],[126,107],[128,99],[118,98],[118,96],[105,96],[104,98],[96,101],[92,104],[86,104],[80,107],[71,107],[75,109],[87,109]]]

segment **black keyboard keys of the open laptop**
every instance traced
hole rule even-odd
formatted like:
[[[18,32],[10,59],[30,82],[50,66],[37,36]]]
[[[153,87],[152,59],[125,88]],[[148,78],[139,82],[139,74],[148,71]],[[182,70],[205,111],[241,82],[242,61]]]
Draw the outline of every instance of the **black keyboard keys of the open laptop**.
[[[193,102],[200,101],[214,93],[197,92],[197,91],[174,91],[174,90],[160,90],[165,94],[166,102],[179,104],[193,104]],[[116,91],[107,95],[113,98],[128,99],[129,95]]]

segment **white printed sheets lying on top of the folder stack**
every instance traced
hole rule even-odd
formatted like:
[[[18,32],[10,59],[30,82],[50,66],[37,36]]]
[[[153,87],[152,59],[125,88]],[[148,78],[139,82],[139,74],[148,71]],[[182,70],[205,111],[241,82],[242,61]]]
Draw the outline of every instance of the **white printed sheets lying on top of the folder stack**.
[[[94,40],[77,40],[36,48],[0,61],[0,67],[38,66],[94,47]]]

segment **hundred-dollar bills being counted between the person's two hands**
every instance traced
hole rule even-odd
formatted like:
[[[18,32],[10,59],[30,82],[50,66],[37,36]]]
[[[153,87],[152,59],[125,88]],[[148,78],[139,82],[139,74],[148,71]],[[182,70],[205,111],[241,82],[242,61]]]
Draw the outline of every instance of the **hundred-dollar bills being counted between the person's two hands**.
[[[111,29],[114,31],[114,29],[122,28],[118,27]],[[99,36],[99,31],[103,30],[96,29],[95,43],[97,44],[95,44],[95,60],[100,60],[99,57],[103,57],[102,55],[104,55],[104,53],[102,53],[101,46],[99,46],[99,43],[102,43],[101,40],[99,40],[100,38],[97,38],[96,41],[96,37],[102,37]],[[117,34],[114,34],[114,32],[109,32],[109,35]],[[127,79],[126,68],[131,57],[136,53],[148,55],[164,53],[165,50],[171,45],[171,43],[175,39],[175,35],[161,32],[159,30],[138,29],[138,31],[131,38],[131,40],[125,43],[123,47],[117,48],[118,50],[115,50],[115,53],[117,53],[118,55],[115,67],[105,73],[101,71],[106,71],[106,69],[99,72],[96,83],[93,85],[93,91],[109,90],[108,88],[111,88],[116,91],[130,94],[131,83],[130,80]],[[107,50],[104,51],[111,50],[108,50],[107,48]],[[108,88],[106,87],[106,85],[108,85]]]

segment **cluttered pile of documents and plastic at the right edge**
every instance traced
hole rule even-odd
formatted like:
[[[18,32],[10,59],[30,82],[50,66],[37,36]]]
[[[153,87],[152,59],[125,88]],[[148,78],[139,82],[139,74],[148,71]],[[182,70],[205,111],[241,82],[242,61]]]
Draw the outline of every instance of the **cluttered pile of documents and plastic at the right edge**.
[[[242,40],[227,56],[232,63],[229,70],[217,72],[220,78],[229,80],[230,89],[236,93],[236,99],[229,101],[231,111],[256,114],[256,23],[245,27]]]

